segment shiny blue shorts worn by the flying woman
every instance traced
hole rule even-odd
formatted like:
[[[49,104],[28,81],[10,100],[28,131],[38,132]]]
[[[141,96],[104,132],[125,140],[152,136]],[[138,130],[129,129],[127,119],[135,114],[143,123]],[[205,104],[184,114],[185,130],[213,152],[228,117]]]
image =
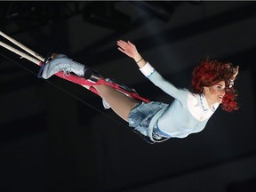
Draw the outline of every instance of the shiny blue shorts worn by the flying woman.
[[[150,124],[152,117],[156,115],[160,109],[167,108],[168,106],[168,104],[157,101],[151,101],[149,103],[142,102],[138,104],[135,108],[132,108],[128,116],[129,126],[134,127],[134,129],[142,135],[149,137],[148,125]],[[153,138],[156,140],[169,138],[167,134],[158,129],[157,124],[155,124],[152,134]]]

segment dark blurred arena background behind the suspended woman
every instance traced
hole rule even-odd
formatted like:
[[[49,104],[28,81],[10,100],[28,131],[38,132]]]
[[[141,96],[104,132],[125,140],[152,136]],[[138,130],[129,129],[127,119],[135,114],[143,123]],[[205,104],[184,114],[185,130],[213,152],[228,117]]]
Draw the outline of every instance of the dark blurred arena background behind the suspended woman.
[[[172,102],[116,49],[130,40],[166,79],[191,89],[209,57],[240,66],[240,109],[203,132],[150,145],[100,97],[0,48],[0,191],[256,191],[255,2],[1,2],[1,30]],[[1,41],[11,44],[3,37]]]

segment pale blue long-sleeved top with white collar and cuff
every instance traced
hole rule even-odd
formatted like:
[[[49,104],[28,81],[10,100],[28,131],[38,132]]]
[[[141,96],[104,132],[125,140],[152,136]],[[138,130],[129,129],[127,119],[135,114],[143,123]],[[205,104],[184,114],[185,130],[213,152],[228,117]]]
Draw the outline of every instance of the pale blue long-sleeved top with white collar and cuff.
[[[185,138],[188,134],[204,130],[209,118],[219,107],[219,103],[209,108],[203,94],[195,94],[187,89],[176,88],[148,62],[140,68],[140,71],[153,84],[174,98],[156,122],[162,132],[167,133],[170,137]]]

